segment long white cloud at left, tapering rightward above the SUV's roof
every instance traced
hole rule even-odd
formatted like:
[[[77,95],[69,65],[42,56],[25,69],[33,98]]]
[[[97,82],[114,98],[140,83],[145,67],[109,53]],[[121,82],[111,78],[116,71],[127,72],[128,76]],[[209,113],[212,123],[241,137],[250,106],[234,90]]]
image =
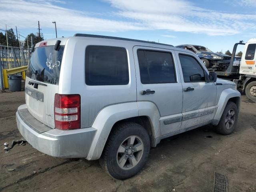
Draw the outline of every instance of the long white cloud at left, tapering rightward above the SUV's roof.
[[[88,13],[55,6],[51,2],[0,0],[1,22],[19,28],[36,28],[37,21],[40,21],[41,28],[52,28],[52,21],[56,21],[58,29],[75,32],[145,29],[140,23],[92,17]]]

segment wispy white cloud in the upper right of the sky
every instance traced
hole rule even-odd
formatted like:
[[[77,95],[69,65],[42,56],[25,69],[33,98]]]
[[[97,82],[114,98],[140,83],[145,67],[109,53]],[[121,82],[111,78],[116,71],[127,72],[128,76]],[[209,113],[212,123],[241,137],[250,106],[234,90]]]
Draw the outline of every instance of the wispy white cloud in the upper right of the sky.
[[[232,35],[248,28],[256,29],[256,15],[203,9],[186,0],[106,1],[120,10],[118,15],[142,22],[150,29],[202,33],[210,36]],[[249,19],[254,22],[249,22]]]

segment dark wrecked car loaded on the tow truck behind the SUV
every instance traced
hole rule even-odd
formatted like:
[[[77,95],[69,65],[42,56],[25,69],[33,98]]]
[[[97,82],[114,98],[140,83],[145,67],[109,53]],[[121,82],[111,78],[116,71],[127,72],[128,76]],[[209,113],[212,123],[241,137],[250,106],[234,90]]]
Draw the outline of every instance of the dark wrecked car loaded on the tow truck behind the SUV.
[[[216,68],[218,61],[230,60],[231,56],[221,53],[214,53],[210,49],[199,45],[178,45],[178,48],[183,48],[194,52],[206,68]]]

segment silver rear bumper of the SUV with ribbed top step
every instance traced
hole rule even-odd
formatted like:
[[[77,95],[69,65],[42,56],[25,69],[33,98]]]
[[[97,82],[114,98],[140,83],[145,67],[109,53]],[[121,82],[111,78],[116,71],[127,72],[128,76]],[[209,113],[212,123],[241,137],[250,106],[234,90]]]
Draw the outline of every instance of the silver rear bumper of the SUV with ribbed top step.
[[[24,109],[26,105],[18,108]],[[16,121],[20,134],[38,151],[54,157],[86,158],[96,134],[94,128],[78,130],[58,130],[38,133],[31,125],[26,124],[16,112]]]

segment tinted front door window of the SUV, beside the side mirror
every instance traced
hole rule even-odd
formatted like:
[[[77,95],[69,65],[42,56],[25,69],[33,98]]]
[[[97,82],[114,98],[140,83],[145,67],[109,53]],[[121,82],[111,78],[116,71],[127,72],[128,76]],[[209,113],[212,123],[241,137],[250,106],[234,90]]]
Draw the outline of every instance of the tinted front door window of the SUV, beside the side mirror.
[[[179,58],[184,82],[205,82],[204,70],[194,57],[179,54]]]

